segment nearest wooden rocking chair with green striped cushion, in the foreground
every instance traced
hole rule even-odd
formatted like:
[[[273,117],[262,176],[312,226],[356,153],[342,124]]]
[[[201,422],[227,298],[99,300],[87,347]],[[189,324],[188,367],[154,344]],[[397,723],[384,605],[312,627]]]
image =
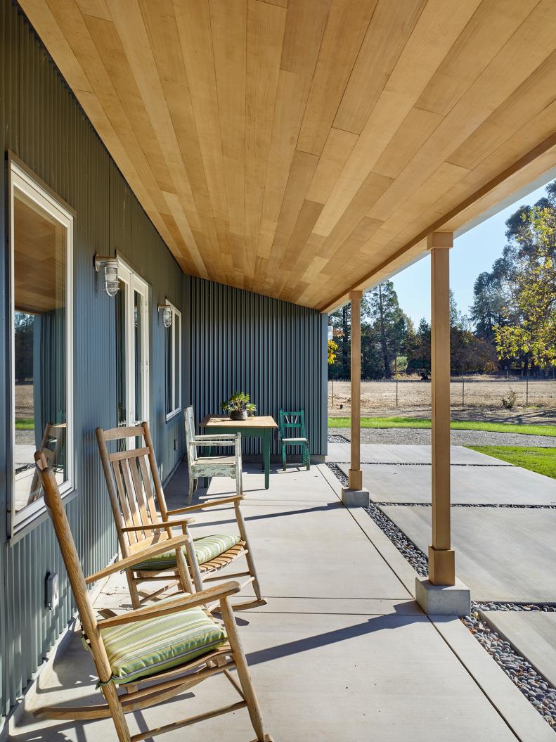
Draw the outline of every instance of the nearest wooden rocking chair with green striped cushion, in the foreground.
[[[239,591],[239,584],[225,582],[200,594],[166,600],[123,614],[100,611],[105,618],[97,619],[87,585],[119,572],[122,567],[133,567],[138,559],[145,559],[147,554],[159,554],[163,549],[175,549],[177,557],[188,536],[177,536],[144,551],[136,551],[85,578],[53,470],[47,467],[40,451],[36,452],[35,460],[44,487],[44,502],[53,520],[84,638],[93,655],[106,703],[43,706],[36,709],[34,715],[79,721],[111,716],[119,742],[139,742],[246,706],[257,742],[271,742],[272,738],[263,729],[251,674],[229,603],[230,596]],[[223,626],[201,607],[211,600],[219,601]],[[233,669],[237,671],[239,682],[231,675]],[[239,693],[241,700],[237,703],[130,735],[126,714],[163,703],[221,672]],[[123,686],[127,692],[119,693],[118,686]]]

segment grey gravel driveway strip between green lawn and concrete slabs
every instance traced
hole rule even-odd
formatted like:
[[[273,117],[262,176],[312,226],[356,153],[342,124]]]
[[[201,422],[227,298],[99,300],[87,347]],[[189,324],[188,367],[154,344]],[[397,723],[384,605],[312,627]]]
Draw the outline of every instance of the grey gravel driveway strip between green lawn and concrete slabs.
[[[523,433],[487,433],[485,430],[451,430],[454,446],[535,446],[556,448],[555,436],[525,436]],[[328,435],[350,439],[348,427],[330,427]],[[428,445],[431,431],[426,428],[387,427],[361,428],[362,443]]]

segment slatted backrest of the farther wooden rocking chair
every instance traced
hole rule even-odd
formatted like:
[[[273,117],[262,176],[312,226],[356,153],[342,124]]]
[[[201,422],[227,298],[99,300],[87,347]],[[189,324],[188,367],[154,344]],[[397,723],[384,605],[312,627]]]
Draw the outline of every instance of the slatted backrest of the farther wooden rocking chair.
[[[108,452],[107,441],[127,439],[130,430],[133,438],[142,439],[139,447],[125,451]],[[116,435],[116,431],[119,435]],[[153,479],[156,499],[161,508],[162,519],[167,513],[156,460],[152,452],[152,440],[148,424],[140,427],[113,428],[113,430],[96,429],[96,439],[99,442],[102,467],[112,505],[116,530],[118,531],[119,545],[122,555],[127,557],[138,548],[145,548],[162,540],[171,538],[171,533],[162,528],[160,531],[142,530],[123,531],[123,528],[150,525],[161,522],[156,510],[155,493],[151,485]],[[153,464],[154,462],[154,464]],[[162,495],[162,500],[161,500]]]

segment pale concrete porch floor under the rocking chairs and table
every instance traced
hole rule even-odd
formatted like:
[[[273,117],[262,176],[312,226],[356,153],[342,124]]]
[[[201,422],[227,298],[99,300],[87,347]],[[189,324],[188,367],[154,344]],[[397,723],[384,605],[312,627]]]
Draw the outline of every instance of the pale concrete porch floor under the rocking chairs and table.
[[[184,470],[168,487],[185,503]],[[245,474],[243,508],[268,605],[237,614],[268,731],[276,742],[554,742],[554,732],[458,619],[431,620],[414,603],[414,572],[367,513],[340,505],[328,467]],[[215,479],[200,497],[233,490]],[[201,531],[233,528],[233,510],[213,510]],[[97,605],[126,605],[117,577]],[[98,700],[79,637],[39,677],[28,709]],[[130,719],[132,732],[234,699],[211,678],[193,692]],[[244,711],[179,730],[168,742],[241,741],[254,733]],[[107,742],[110,720],[36,721],[27,711],[18,742]],[[158,738],[157,738],[158,739]]]

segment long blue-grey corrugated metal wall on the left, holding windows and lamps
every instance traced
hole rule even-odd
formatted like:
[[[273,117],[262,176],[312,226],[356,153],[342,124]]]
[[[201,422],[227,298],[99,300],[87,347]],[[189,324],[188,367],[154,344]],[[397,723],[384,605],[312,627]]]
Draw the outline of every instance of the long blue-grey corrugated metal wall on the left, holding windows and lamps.
[[[13,151],[73,209],[74,446],[76,494],[67,513],[85,571],[116,551],[110,506],[96,450],[97,425],[116,424],[115,301],[93,271],[96,250],[116,250],[150,283],[150,422],[163,479],[182,457],[182,416],[165,420],[164,335],[156,304],[183,309],[176,261],[110,159],[73,93],[19,8],[0,0],[0,148]],[[4,160],[5,162],[5,160]],[[7,539],[7,171],[0,178],[0,712],[16,701],[73,611],[48,519]],[[178,439],[174,450],[174,439]],[[56,571],[60,605],[44,609],[44,577]]]

